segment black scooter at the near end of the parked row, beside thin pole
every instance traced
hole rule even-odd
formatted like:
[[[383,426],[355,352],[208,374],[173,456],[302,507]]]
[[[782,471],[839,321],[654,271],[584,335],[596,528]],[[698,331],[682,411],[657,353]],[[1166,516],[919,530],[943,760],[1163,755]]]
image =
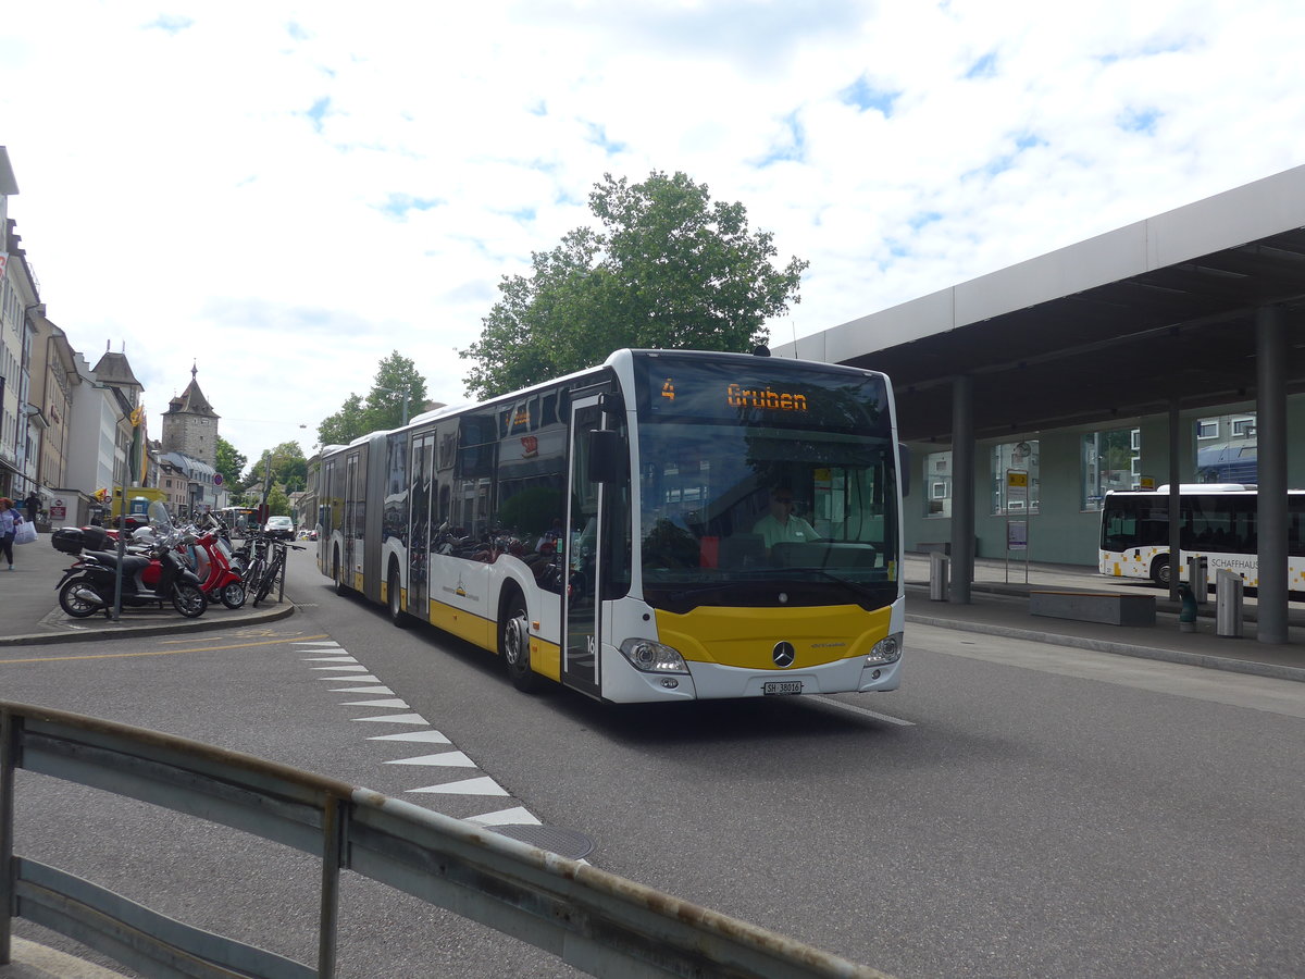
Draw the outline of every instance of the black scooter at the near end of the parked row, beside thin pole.
[[[202,582],[177,552],[183,535],[172,526],[162,503],[150,504],[150,525],[155,540],[149,556],[123,556],[123,607],[157,604],[162,608],[164,602],[171,602],[187,619],[204,615],[209,600]],[[100,611],[112,615],[117,560],[112,551],[82,552],[55,586],[60,608],[74,619]]]

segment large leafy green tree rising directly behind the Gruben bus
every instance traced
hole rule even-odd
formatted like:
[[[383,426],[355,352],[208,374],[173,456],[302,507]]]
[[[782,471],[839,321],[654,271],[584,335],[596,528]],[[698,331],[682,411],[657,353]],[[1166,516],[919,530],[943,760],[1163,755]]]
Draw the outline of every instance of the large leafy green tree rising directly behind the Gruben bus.
[[[468,394],[578,371],[619,347],[750,350],[766,342],[766,320],[800,302],[808,262],[776,268],[773,235],[685,174],[639,184],[607,174],[589,205],[600,230],[568,232],[531,256],[530,277],[499,283],[480,339],[458,351],[474,362]]]

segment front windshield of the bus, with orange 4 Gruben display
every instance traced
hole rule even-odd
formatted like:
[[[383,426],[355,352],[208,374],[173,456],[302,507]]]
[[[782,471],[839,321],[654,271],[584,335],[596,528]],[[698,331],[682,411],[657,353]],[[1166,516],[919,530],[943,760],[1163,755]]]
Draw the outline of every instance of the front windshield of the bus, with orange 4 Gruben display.
[[[897,597],[882,380],[837,368],[813,380],[808,367],[799,381],[770,363],[748,377],[736,363],[650,363],[636,527],[654,607],[880,608]]]

